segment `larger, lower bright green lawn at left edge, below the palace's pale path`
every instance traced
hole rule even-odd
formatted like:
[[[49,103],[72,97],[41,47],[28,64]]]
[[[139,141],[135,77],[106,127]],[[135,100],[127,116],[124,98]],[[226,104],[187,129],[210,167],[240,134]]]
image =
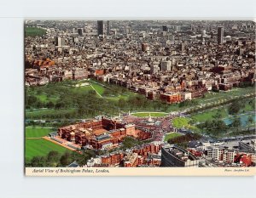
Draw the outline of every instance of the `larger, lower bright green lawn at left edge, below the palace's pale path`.
[[[61,145],[54,144],[46,139],[26,139],[25,149],[27,161],[31,161],[33,156],[47,156],[49,151],[52,150],[58,151],[60,154],[69,151]]]

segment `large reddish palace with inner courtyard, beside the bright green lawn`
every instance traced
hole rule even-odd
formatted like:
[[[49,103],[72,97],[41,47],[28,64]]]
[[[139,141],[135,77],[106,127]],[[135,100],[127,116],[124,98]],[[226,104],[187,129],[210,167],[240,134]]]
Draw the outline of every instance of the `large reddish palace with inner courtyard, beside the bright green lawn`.
[[[58,134],[61,139],[67,139],[67,141],[81,146],[90,145],[94,149],[115,147],[126,136],[142,140],[152,137],[150,132],[137,129],[134,124],[125,124],[104,117],[97,121],[60,127]]]

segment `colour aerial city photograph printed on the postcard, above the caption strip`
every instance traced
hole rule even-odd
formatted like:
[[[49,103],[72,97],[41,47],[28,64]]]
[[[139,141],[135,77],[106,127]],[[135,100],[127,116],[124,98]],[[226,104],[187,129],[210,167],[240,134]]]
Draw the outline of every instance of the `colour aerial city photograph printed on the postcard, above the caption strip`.
[[[25,20],[24,166],[255,167],[255,27]]]

